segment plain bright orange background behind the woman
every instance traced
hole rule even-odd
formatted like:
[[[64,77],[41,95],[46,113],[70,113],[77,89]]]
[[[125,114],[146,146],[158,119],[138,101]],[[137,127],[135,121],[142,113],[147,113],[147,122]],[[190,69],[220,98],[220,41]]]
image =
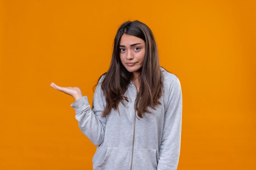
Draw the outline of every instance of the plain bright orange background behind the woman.
[[[117,28],[140,20],[182,85],[178,170],[256,169],[256,2],[0,1],[0,169],[92,169],[74,98],[110,63]]]

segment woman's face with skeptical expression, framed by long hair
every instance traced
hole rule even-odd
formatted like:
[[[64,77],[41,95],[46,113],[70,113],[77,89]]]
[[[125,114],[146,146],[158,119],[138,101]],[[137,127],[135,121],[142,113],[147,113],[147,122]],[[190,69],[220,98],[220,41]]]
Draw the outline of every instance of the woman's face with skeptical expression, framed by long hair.
[[[145,41],[133,35],[123,34],[120,39],[121,63],[133,76],[139,75],[145,57]]]

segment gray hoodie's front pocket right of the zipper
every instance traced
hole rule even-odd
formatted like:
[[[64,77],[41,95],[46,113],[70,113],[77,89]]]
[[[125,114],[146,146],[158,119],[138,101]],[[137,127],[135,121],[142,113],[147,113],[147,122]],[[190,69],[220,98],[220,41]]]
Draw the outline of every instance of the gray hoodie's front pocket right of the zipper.
[[[133,170],[157,170],[157,154],[155,149],[134,148],[132,159]]]

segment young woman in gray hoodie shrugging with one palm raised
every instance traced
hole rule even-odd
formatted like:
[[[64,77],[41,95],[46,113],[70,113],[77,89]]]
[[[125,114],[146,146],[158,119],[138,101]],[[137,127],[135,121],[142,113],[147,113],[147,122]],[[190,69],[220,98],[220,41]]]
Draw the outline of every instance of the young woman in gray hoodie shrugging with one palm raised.
[[[97,146],[94,170],[176,170],[180,156],[182,91],[159,66],[150,28],[124,22],[92,109],[79,87],[51,86],[74,97],[79,128]]]

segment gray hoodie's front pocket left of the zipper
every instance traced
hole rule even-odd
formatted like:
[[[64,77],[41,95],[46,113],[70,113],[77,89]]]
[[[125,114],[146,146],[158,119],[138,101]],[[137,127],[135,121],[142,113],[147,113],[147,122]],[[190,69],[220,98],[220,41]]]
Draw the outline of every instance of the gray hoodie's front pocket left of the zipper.
[[[108,147],[103,161],[95,170],[124,170],[129,168],[131,148]]]

